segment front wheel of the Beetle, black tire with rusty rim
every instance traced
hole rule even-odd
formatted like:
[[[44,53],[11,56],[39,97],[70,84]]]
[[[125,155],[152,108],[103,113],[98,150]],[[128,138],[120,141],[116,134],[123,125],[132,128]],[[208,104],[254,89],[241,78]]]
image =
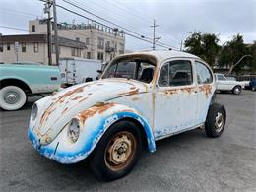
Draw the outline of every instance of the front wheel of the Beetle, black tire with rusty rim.
[[[123,134],[127,137],[126,141],[124,141]],[[129,142],[131,143],[130,145]],[[126,148],[122,148],[123,144],[126,145]],[[117,149],[117,147],[119,148]],[[125,176],[133,169],[139,160],[141,150],[142,136],[140,129],[133,122],[127,120],[118,121],[99,140],[96,149],[89,157],[89,163],[98,180],[111,181]],[[122,154],[119,154],[119,152]],[[119,156],[121,157],[120,159]],[[127,160],[123,163],[118,162],[122,158]]]

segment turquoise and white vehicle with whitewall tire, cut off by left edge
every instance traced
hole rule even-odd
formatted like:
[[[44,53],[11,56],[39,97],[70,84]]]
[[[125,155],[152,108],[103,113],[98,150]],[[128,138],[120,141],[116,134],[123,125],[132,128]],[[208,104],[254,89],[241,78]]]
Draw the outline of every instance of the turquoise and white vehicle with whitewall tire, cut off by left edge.
[[[52,93],[60,87],[58,67],[39,63],[6,63],[0,65],[0,107],[17,110],[28,96]]]

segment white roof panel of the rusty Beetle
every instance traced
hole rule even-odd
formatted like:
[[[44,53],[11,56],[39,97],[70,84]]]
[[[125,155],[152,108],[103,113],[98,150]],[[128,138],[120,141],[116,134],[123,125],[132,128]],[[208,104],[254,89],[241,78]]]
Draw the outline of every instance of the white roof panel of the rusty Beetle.
[[[182,52],[182,51],[175,51],[175,50],[154,50],[154,51],[142,51],[142,52],[133,52],[120,55],[122,56],[132,56],[132,55],[151,55],[157,58],[158,63],[164,61],[165,59],[170,58],[194,58],[200,59],[199,57],[192,55],[190,53]],[[201,60],[201,59],[200,59]]]

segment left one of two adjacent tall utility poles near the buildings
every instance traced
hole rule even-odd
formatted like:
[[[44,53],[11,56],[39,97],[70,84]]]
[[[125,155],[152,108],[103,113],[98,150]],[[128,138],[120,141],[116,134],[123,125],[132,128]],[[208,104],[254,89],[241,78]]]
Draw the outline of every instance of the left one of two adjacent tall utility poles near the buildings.
[[[47,43],[48,43],[48,64],[52,65],[52,58],[51,58],[51,16],[50,16],[50,7],[51,1],[47,0],[44,4],[44,13],[48,14],[47,20]]]

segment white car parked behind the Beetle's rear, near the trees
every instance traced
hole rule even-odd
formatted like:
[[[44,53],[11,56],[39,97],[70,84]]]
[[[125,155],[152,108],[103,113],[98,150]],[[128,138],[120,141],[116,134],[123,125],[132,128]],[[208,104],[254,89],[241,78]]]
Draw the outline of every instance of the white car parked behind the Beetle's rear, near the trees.
[[[230,91],[235,95],[239,95],[244,89],[245,84],[243,82],[238,82],[236,80],[228,80],[224,76],[224,74],[216,73],[215,74],[217,90],[222,91]]]

